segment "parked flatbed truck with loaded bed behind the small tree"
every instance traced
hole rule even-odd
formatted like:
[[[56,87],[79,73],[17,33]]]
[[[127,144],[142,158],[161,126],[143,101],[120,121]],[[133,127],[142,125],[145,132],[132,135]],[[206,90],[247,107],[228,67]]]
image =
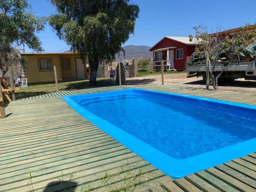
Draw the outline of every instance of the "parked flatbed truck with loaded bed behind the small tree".
[[[218,82],[231,82],[237,78],[256,81],[256,42],[242,49],[239,54],[222,50],[221,54],[215,52],[213,55],[219,55],[216,59],[212,59],[210,67],[213,77],[218,77]],[[189,58],[186,70],[187,77],[202,76],[205,80],[206,59],[194,52]]]

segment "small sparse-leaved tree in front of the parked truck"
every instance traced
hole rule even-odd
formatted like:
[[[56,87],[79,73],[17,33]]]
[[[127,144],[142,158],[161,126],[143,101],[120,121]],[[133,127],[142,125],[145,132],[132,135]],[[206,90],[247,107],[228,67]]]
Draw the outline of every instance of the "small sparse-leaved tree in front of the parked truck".
[[[199,44],[195,48],[195,53],[198,58],[204,58],[206,63],[206,89],[209,89],[209,82],[211,78],[211,83],[214,89],[218,88],[218,78],[223,73],[218,74],[217,77],[214,75],[214,63],[217,63],[223,52],[230,55],[228,61],[225,61],[226,68],[234,62],[236,58],[239,59],[239,55],[242,54],[242,49],[256,39],[256,31],[250,29],[250,23],[246,26],[241,27],[239,33],[236,37],[230,38],[228,34],[221,35],[219,32],[209,34],[207,33],[206,27],[194,27],[196,34],[193,37],[189,35],[190,41],[195,41]],[[213,67],[211,65],[213,64]]]

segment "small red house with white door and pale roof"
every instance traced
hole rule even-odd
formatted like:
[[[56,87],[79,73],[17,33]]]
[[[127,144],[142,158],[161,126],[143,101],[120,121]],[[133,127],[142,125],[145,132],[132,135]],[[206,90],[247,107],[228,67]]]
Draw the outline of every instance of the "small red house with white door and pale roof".
[[[164,37],[149,51],[153,51],[154,70],[185,70],[196,44],[189,37]]]

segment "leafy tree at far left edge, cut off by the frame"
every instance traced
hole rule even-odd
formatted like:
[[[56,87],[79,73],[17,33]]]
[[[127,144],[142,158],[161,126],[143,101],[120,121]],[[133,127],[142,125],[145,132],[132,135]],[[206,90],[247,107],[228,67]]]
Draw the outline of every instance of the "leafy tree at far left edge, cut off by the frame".
[[[35,17],[26,0],[0,0],[0,68],[3,75],[17,61],[14,44],[27,44],[30,49],[42,51],[35,35],[43,30],[44,18]]]

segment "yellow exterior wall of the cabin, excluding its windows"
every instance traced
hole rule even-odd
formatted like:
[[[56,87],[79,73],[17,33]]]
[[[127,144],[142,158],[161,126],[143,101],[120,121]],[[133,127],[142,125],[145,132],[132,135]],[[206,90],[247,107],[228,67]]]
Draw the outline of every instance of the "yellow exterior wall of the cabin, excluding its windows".
[[[22,53],[21,57],[25,59],[24,68],[27,68],[27,80],[28,83],[38,82],[54,82],[54,71],[53,66],[56,66],[57,79],[58,81],[77,79],[76,73],[76,58],[80,58],[78,54],[60,54],[60,53]],[[39,70],[39,59],[51,59],[52,70],[40,71]],[[70,70],[61,69],[61,59],[70,59]]]

